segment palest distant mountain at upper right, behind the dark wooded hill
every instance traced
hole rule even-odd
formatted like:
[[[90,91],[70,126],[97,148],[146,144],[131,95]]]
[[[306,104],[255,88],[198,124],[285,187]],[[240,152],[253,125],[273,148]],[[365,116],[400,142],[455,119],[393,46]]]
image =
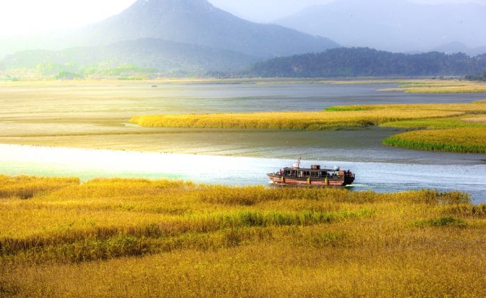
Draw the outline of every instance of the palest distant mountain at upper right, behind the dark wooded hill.
[[[275,23],[346,46],[407,53],[429,51],[450,42],[486,46],[485,15],[486,6],[474,3],[339,0],[306,8]]]

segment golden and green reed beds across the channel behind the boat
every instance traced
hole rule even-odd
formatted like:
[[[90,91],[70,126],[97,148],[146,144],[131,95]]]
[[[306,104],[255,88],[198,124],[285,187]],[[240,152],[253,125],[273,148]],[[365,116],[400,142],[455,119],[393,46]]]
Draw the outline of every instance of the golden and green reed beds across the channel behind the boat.
[[[135,116],[130,122],[150,128],[278,130],[326,130],[380,125],[422,129],[389,137],[383,141],[386,145],[419,150],[483,153],[486,144],[485,114],[486,101],[480,100],[462,104],[347,105],[328,107],[322,112],[166,114]]]

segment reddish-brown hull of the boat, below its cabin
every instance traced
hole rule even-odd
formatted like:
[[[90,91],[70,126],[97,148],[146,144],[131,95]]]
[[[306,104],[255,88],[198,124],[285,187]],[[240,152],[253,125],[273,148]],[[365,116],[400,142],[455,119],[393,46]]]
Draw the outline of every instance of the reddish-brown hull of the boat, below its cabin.
[[[278,185],[299,185],[299,186],[346,186],[352,184],[354,177],[328,177],[313,178],[313,177],[289,177],[276,174],[267,174],[273,184]]]

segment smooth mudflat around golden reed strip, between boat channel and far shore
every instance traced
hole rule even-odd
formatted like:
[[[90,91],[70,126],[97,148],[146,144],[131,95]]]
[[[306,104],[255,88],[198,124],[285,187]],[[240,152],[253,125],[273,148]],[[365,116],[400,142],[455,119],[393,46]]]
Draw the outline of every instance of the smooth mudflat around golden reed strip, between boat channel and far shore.
[[[460,166],[485,167],[485,156],[482,154],[421,152],[383,146],[383,139],[405,132],[408,127],[292,131],[140,128],[128,123],[133,116],[144,114],[316,112],[337,105],[467,104],[486,98],[486,94],[477,93],[406,94],[379,91],[399,84],[401,80],[2,82],[0,143],[257,159],[303,157],[327,161],[332,165],[381,163],[383,168],[396,168],[393,165],[400,164],[410,167],[415,164],[458,166],[457,170]],[[19,173],[19,170],[12,170],[17,162],[3,161],[3,173]],[[282,161],[279,167],[287,166],[286,162]],[[369,167],[375,168],[371,164]],[[22,169],[28,170],[26,167]],[[35,173],[31,171],[25,174]],[[265,173],[262,173],[262,177],[265,177]],[[379,176],[375,179],[381,180]],[[235,183],[241,185],[246,182]],[[402,186],[405,187],[405,184]],[[421,186],[424,185],[414,184],[410,187]]]

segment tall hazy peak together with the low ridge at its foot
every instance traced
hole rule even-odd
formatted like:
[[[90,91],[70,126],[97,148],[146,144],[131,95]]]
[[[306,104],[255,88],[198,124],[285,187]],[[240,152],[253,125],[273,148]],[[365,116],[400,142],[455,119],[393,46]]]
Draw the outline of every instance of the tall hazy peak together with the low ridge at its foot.
[[[37,59],[33,51],[17,53],[3,60],[3,67],[35,67],[44,61],[66,63],[69,52],[71,64],[131,62],[159,69],[214,71],[338,46],[324,37],[240,19],[206,0],[138,0],[99,23],[42,38],[44,42],[37,44],[56,40],[51,43],[56,50],[69,50],[48,49],[51,51],[38,52]],[[76,49],[70,49],[73,47]]]

